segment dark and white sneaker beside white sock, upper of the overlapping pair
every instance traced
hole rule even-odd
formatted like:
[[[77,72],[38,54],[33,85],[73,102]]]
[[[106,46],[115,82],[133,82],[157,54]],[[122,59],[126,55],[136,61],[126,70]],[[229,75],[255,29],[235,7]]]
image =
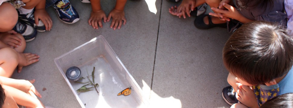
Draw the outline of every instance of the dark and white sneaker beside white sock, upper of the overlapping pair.
[[[33,26],[38,32],[46,31],[46,27],[41,20],[39,20],[39,25],[38,26],[36,25],[35,18],[34,18],[34,10],[31,11],[31,13],[27,13],[27,14],[19,14],[18,12],[18,18],[22,20],[24,23],[27,23],[28,25]]]

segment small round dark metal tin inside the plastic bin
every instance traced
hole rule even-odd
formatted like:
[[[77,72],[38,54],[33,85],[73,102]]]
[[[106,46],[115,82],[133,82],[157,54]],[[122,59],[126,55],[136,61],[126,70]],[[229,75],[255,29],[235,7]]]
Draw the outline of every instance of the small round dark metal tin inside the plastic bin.
[[[66,70],[66,77],[70,81],[77,81],[80,78],[81,71],[78,67],[70,67]]]

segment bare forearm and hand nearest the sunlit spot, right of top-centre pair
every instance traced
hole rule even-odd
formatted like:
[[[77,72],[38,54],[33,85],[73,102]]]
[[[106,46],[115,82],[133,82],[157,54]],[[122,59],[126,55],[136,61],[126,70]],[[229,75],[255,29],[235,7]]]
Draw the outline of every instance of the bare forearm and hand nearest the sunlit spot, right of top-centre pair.
[[[111,10],[111,12],[109,13],[108,19],[107,19],[107,22],[109,22],[112,17],[112,23],[111,23],[110,28],[113,28],[115,30],[118,26],[118,29],[120,29],[122,26],[122,21],[123,21],[123,25],[126,24],[126,18],[125,18],[125,13],[124,13],[124,6],[126,4],[126,1],[127,0],[117,0],[116,1],[115,7],[113,10]]]

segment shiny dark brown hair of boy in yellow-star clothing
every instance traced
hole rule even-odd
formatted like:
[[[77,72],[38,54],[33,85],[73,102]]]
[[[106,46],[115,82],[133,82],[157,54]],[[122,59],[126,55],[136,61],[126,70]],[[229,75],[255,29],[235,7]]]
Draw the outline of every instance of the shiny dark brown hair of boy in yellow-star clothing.
[[[224,46],[225,67],[252,85],[283,76],[293,64],[293,39],[285,31],[273,22],[244,24]]]

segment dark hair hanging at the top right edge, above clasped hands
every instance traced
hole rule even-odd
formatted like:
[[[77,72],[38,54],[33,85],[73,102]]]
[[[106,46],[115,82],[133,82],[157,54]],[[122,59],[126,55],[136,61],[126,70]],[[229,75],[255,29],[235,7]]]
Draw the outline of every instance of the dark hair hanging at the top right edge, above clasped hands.
[[[261,6],[262,8],[266,9],[267,6],[273,7],[274,3],[273,0],[238,0],[239,3],[237,7],[252,10],[257,6]]]

